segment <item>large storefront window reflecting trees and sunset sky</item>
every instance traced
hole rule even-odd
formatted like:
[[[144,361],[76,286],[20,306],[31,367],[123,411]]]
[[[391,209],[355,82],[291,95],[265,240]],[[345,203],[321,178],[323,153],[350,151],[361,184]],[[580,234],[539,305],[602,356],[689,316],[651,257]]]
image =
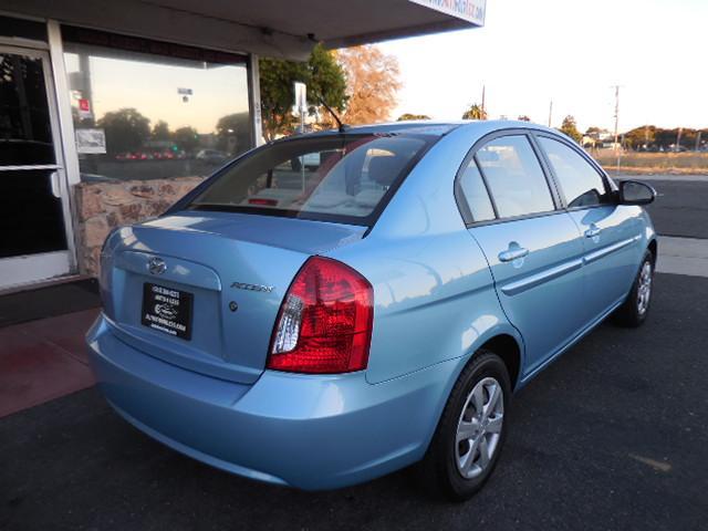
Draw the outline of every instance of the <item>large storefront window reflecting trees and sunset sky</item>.
[[[246,56],[63,33],[82,180],[206,176],[251,147]]]

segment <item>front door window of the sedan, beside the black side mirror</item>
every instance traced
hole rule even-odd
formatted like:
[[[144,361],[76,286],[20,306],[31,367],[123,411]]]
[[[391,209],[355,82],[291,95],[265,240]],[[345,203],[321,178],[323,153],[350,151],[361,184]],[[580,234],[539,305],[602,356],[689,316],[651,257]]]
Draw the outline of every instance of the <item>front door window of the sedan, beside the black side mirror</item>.
[[[587,160],[562,142],[544,136],[540,136],[539,142],[553,166],[569,207],[607,202],[610,196],[605,184]]]

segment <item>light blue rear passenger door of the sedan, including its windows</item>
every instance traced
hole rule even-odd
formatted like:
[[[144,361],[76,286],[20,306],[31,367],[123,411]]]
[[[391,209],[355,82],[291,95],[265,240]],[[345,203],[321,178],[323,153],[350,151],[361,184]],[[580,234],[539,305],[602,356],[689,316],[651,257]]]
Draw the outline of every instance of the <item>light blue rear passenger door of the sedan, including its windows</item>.
[[[469,233],[485,252],[499,301],[532,372],[582,330],[583,242],[525,133],[492,137],[458,177]]]

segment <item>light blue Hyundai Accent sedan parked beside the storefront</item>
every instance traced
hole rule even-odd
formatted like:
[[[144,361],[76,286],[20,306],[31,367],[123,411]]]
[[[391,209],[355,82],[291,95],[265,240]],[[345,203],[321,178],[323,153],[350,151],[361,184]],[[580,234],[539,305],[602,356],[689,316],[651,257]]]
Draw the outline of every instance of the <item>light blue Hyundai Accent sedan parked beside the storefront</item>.
[[[417,464],[467,499],[512,394],[608,315],[646,319],[654,197],[528,123],[274,142],[108,237],[91,364],[217,468],[332,489]]]

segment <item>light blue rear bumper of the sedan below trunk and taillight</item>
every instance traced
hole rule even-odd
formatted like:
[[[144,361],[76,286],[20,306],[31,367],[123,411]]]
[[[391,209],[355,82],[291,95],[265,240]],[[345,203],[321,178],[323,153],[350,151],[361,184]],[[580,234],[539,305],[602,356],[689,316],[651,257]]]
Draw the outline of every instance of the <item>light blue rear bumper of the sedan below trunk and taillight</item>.
[[[309,490],[366,481],[420,459],[459,362],[376,385],[364,373],[272,371],[246,385],[128,346],[103,316],[86,342],[107,400],[138,429],[214,467]]]

